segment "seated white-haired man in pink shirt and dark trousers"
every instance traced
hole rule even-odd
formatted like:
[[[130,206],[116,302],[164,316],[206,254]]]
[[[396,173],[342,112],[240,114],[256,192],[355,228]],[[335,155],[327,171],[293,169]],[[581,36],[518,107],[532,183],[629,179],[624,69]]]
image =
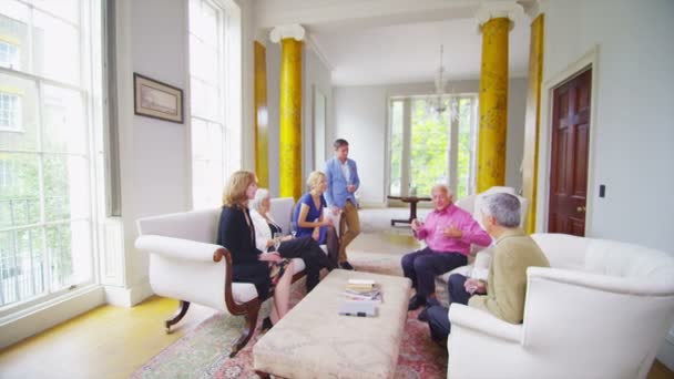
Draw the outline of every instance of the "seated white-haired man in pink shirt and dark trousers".
[[[431,197],[436,208],[426,217],[426,223],[418,219],[411,223],[415,237],[425,239],[427,247],[402,257],[402,272],[417,289],[408,310],[437,305],[436,276],[468,264],[471,244],[491,244],[491,237],[480,224],[452,204],[452,194],[446,185],[436,184]]]

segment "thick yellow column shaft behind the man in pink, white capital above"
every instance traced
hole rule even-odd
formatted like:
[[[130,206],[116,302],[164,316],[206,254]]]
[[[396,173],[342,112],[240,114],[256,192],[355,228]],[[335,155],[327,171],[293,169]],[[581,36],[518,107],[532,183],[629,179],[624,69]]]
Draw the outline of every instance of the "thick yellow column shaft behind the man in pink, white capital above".
[[[506,17],[482,24],[478,192],[506,183],[509,31]]]

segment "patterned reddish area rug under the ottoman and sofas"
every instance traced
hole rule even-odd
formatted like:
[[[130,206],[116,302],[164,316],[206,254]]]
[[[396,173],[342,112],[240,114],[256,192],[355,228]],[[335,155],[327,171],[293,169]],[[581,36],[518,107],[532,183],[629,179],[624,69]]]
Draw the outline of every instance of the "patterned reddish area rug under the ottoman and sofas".
[[[382,238],[379,247],[392,243],[398,246],[398,250],[390,248],[382,249],[384,253],[358,250],[350,256],[356,269],[401,276],[400,252],[411,249],[401,247],[400,240],[391,240],[391,236],[369,237],[374,238],[371,242]],[[367,243],[366,240],[365,245],[368,245]],[[441,288],[442,286],[438,286],[438,290]],[[305,284],[302,279],[293,285],[290,304],[297,304],[304,295]],[[132,373],[131,378],[257,378],[253,371],[253,346],[262,337],[258,332],[259,327],[269,308],[270,301],[266,301],[255,335],[236,357],[228,357],[229,344],[238,337],[244,324],[243,317],[226,317],[218,314],[164,349]],[[396,378],[445,378],[447,351],[431,341],[428,325],[417,320],[418,313],[417,310],[408,314]]]

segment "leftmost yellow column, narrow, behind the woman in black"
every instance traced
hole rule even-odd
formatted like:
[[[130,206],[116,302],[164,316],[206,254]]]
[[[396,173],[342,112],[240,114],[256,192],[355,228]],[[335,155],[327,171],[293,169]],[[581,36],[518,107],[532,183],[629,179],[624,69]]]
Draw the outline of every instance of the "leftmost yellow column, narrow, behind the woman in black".
[[[255,174],[257,185],[269,187],[269,125],[267,115],[266,48],[255,41]]]

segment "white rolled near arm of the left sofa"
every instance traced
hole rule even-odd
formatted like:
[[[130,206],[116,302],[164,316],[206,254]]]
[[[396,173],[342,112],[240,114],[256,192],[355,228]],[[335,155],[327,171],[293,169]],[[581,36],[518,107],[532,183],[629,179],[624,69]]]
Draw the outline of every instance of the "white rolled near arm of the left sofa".
[[[135,247],[175,259],[196,262],[219,262],[225,249],[219,245],[156,235],[137,237]]]

